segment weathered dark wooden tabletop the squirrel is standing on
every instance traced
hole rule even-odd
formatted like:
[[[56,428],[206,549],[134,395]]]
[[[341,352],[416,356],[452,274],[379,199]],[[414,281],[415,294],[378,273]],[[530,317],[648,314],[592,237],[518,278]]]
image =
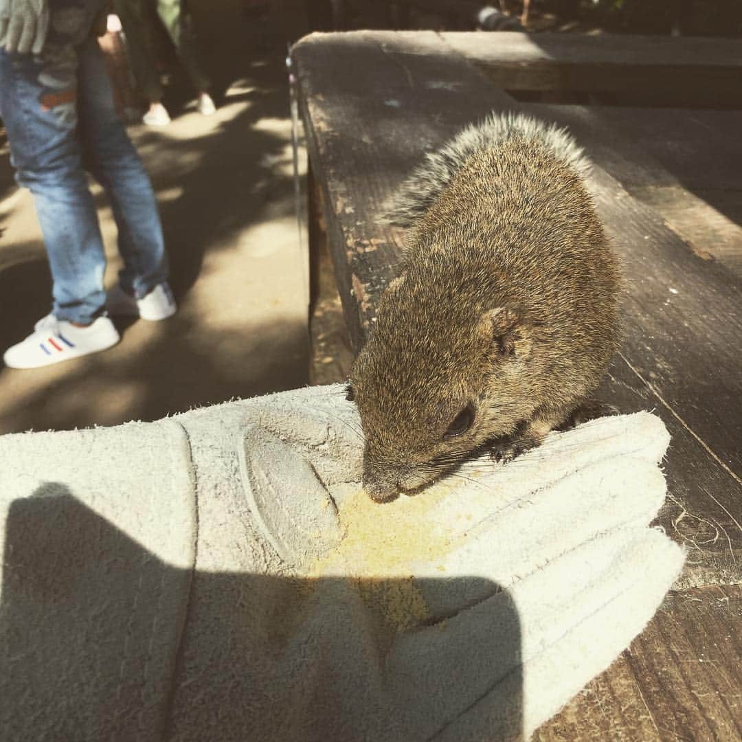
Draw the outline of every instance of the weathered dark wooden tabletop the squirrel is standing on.
[[[293,54],[338,288],[358,349],[400,256],[403,235],[379,218],[398,183],[425,151],[462,125],[493,108],[524,107],[434,33],[309,36]],[[556,113],[572,115],[582,145],[607,151],[584,111],[563,109]],[[544,107],[531,111],[548,116]],[[628,168],[620,153],[611,157]],[[610,165],[608,157],[603,164]],[[575,700],[540,733],[543,739],[596,733],[637,740],[736,738],[742,660],[735,587],[742,583],[739,281],[723,263],[694,252],[613,174],[597,167],[591,185],[627,279],[626,343],[603,390],[620,409],[655,410],[669,427],[669,497],[660,523],[688,545],[689,559],[676,585],[680,591],[589,686],[586,697],[594,700]],[[720,590],[728,605],[717,600]],[[706,616],[733,638],[721,643],[715,628],[703,633],[695,623]],[[714,695],[713,678],[700,672],[706,668],[692,667],[703,664],[697,661],[701,651],[719,683],[736,689],[736,695],[726,693],[732,699],[727,706]]]

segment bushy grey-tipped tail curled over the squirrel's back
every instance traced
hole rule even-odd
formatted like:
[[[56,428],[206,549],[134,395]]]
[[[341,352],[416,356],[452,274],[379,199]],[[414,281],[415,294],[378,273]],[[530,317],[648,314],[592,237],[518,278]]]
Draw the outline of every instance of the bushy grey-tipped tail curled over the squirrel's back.
[[[580,174],[590,167],[571,134],[554,123],[545,123],[525,114],[508,111],[490,114],[479,124],[470,124],[439,151],[425,155],[395,195],[387,221],[411,226],[438,200],[441,192],[474,152],[492,147],[512,137],[536,139],[568,162]]]

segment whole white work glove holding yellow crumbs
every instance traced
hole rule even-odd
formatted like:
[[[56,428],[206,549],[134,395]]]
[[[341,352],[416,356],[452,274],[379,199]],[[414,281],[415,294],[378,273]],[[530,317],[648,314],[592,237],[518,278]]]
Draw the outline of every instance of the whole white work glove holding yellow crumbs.
[[[2,737],[528,737],[680,571],[668,440],[601,418],[378,505],[339,384],[0,436]]]

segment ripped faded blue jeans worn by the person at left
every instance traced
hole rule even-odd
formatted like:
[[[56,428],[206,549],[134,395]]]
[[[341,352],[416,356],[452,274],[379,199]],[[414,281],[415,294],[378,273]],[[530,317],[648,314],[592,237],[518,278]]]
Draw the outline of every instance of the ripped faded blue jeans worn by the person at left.
[[[16,181],[33,194],[53,278],[53,314],[88,324],[105,312],[105,254],[86,170],[105,188],[119,231],[123,289],[138,298],[167,280],[154,191],[116,115],[86,0],[52,0],[39,56],[0,49],[0,116]],[[79,13],[75,27],[55,9]],[[86,7],[88,6],[88,7]],[[70,31],[70,25],[72,26]]]

